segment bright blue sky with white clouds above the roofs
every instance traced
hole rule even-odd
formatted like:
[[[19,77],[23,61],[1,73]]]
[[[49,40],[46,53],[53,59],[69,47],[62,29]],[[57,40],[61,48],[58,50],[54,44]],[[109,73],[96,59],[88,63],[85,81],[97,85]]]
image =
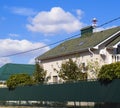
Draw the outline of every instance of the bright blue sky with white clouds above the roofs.
[[[0,0],[0,66],[34,63],[34,58],[54,46],[42,47],[80,33],[82,27],[120,17],[119,0]],[[100,29],[119,26],[120,20]]]

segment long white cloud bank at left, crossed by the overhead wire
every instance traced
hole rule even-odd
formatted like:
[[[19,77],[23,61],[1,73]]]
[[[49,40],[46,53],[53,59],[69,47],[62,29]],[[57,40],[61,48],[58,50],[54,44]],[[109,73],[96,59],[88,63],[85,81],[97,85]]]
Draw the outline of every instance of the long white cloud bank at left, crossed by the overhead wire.
[[[39,50],[34,50],[34,51],[31,51],[28,53],[23,53],[21,55],[17,55],[19,59],[20,58],[31,59],[33,57],[39,56],[40,54],[42,54],[50,49],[49,47],[44,47],[41,49],[42,46],[45,46],[45,44],[40,43],[40,42],[32,43],[28,40],[0,39],[0,49],[1,49],[0,57],[29,51],[29,50],[35,49],[35,48],[40,48]],[[2,60],[5,61],[6,59],[1,59],[1,61]]]

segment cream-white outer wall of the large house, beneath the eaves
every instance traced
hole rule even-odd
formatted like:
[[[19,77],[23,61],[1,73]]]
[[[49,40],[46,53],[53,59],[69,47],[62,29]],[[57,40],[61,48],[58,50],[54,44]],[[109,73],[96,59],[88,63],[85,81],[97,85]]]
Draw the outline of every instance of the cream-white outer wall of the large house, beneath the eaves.
[[[105,55],[100,54],[101,50],[105,50]],[[69,58],[72,58],[74,61],[76,60],[78,64],[85,63],[87,65],[89,62],[98,61],[99,66],[101,67],[104,64],[112,63],[112,50],[106,50],[106,48],[101,48],[99,50],[94,50],[92,53],[87,50],[85,52],[81,52],[76,55],[70,55],[70,56],[63,56],[58,57],[54,59],[44,60],[42,61],[43,68],[47,71],[47,77],[49,77],[48,82],[53,83],[53,77],[57,76],[58,73],[54,70],[59,70],[61,67],[61,64],[64,63]],[[96,78],[96,74],[94,72],[88,73],[88,79]],[[61,79],[58,77],[58,82],[60,82]]]

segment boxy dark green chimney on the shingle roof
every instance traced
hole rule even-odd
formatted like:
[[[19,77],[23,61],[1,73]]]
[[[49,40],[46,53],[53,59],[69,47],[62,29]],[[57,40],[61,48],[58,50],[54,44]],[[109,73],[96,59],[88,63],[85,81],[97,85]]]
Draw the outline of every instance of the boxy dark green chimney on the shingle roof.
[[[81,37],[91,36],[93,33],[93,26],[87,26],[81,29]]]

